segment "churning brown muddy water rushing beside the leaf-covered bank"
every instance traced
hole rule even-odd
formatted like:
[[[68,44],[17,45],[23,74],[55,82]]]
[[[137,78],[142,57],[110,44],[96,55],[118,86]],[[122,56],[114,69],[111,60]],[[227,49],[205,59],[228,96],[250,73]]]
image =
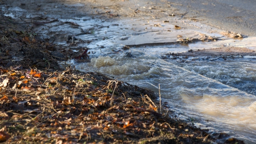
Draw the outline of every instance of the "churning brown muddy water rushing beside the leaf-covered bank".
[[[134,31],[131,30],[125,36],[131,38],[133,37],[131,33]],[[122,34],[124,35],[119,31],[116,35],[122,38]],[[139,35],[143,34],[140,32]],[[253,44],[247,41],[248,39],[239,41],[226,39],[188,45],[146,44],[123,50],[121,49],[123,45],[113,39],[100,40],[87,45],[92,51],[96,51],[91,62],[76,64],[76,68],[111,75],[120,81],[152,89],[156,93],[160,84],[162,98],[169,103],[171,110],[181,114],[179,117],[192,120],[196,126],[203,126],[202,128],[207,126],[206,129],[226,132],[248,143],[254,143],[256,142],[255,57],[227,60],[217,58],[205,60],[198,57],[188,58],[185,61],[161,57],[165,53],[225,45],[240,47],[250,45],[247,48],[255,49]],[[105,48],[99,48],[100,46]]]

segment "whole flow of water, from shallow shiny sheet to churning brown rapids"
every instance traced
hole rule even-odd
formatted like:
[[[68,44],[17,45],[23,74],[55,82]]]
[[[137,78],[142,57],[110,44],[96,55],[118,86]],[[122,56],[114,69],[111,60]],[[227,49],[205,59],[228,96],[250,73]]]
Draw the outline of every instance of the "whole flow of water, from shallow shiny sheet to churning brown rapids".
[[[6,15],[14,17],[12,12]],[[67,21],[80,27],[63,23]],[[153,20],[127,22],[104,22],[89,17],[59,19],[35,30],[44,37],[73,34],[85,41],[94,39],[89,44],[78,43],[78,47],[86,46],[93,54],[89,63],[71,61],[77,69],[111,75],[156,93],[160,84],[161,97],[171,110],[181,113],[179,117],[193,120],[196,126],[207,126],[206,129],[256,143],[256,57],[227,60],[199,57],[185,61],[162,58],[166,53],[225,45],[255,50],[255,38],[234,40],[208,33],[224,40],[182,45],[174,43],[177,34],[197,38],[195,33],[202,31],[177,30],[171,24],[158,24]],[[56,41],[66,44],[64,39]],[[123,50],[121,44],[140,46]]]

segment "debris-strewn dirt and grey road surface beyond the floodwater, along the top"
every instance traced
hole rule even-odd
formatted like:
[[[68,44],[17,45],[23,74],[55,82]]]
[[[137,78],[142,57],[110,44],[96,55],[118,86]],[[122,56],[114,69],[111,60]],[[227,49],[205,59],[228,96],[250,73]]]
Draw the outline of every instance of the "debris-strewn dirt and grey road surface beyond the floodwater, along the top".
[[[103,19],[166,19],[170,15],[192,19],[225,31],[256,36],[256,1],[254,0],[1,0],[2,5],[21,7],[44,16],[96,16]],[[0,4],[1,4],[0,3]],[[35,13],[35,12],[33,12]]]

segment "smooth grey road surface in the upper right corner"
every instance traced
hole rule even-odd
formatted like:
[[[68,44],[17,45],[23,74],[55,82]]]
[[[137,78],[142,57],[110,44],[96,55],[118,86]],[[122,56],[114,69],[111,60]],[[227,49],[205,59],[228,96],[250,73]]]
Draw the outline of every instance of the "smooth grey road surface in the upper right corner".
[[[255,0],[168,0],[173,7],[204,24],[256,36]]]

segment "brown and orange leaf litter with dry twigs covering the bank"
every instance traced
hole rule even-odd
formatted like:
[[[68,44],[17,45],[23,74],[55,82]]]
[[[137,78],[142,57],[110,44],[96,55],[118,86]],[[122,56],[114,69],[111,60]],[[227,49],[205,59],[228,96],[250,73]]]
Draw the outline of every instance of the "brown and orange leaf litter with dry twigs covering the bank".
[[[45,52],[55,50],[55,45],[17,30],[12,19],[1,17],[1,27],[11,22],[16,29],[0,33],[0,142],[244,143],[180,120],[165,103],[159,103],[153,91],[99,73],[60,69]],[[88,58],[87,51],[76,59]],[[10,61],[19,52],[25,53],[20,55],[23,59]],[[48,69],[37,65],[42,58]]]

